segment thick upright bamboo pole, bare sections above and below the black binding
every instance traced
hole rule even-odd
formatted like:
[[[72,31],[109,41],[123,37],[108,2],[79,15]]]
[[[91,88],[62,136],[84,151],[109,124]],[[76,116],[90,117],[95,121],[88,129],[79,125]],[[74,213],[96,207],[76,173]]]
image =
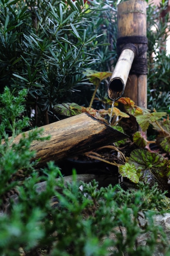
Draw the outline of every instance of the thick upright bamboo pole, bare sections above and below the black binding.
[[[117,7],[118,38],[146,36],[146,1],[128,0]],[[138,48],[141,44],[135,44]],[[146,53],[141,57],[146,58]],[[137,106],[147,108],[147,75],[129,74],[123,97],[129,97]]]

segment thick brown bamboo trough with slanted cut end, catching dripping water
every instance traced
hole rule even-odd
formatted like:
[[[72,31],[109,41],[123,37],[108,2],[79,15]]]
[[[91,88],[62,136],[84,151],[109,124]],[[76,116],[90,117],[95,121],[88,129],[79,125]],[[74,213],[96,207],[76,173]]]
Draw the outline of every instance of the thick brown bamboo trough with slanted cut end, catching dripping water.
[[[30,150],[36,151],[35,159],[40,159],[38,166],[43,166],[50,160],[58,162],[80,155],[128,137],[87,113],[68,117],[41,128],[44,129],[41,136],[51,135],[51,139],[33,141],[31,144]],[[28,136],[31,131],[24,132],[24,135]],[[13,142],[18,144],[22,135],[23,133],[18,135]]]

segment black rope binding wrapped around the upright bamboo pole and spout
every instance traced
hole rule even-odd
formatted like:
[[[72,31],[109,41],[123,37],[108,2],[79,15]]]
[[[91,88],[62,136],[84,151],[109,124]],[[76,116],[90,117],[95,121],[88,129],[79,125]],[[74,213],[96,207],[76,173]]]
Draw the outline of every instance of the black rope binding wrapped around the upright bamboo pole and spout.
[[[136,47],[134,44],[141,44]],[[117,54],[120,55],[124,49],[131,49],[135,58],[130,69],[130,74],[148,74],[147,58],[141,57],[148,50],[148,38],[146,36],[124,36],[117,39]]]

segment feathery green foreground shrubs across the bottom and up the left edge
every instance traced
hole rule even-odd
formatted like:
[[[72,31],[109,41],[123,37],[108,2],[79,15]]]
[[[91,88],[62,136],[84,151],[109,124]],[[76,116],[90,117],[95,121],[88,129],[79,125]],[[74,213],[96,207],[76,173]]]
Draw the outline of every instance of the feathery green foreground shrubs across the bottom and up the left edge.
[[[151,256],[155,249],[168,255],[166,235],[153,222],[153,216],[166,207],[157,186],[150,189],[140,183],[137,190],[124,191],[119,185],[99,189],[95,180],[77,182],[75,172],[73,181],[64,183],[53,162],[36,169],[30,144],[47,138],[40,138],[35,130],[19,144],[14,141],[29,121],[22,117],[24,97],[25,90],[14,96],[8,88],[0,97],[0,132],[5,141],[0,144],[0,255]],[[46,181],[46,189],[40,192],[41,181]],[[17,202],[9,196],[11,191],[18,193]],[[7,198],[11,204],[5,209]],[[137,238],[146,232],[147,243],[142,246]]]

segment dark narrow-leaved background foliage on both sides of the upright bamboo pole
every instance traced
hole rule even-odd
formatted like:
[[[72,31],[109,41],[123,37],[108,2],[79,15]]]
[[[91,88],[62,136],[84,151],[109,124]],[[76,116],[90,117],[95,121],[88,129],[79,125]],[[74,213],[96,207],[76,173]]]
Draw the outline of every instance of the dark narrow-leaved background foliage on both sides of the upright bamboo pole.
[[[53,111],[57,103],[88,106],[94,85],[86,70],[112,71],[117,60],[116,2],[13,0],[0,6],[0,92],[4,86],[15,93],[28,90],[26,115],[33,127],[60,119]],[[169,111],[165,9],[166,4],[147,7],[148,107]],[[107,97],[102,83],[99,99]]]

